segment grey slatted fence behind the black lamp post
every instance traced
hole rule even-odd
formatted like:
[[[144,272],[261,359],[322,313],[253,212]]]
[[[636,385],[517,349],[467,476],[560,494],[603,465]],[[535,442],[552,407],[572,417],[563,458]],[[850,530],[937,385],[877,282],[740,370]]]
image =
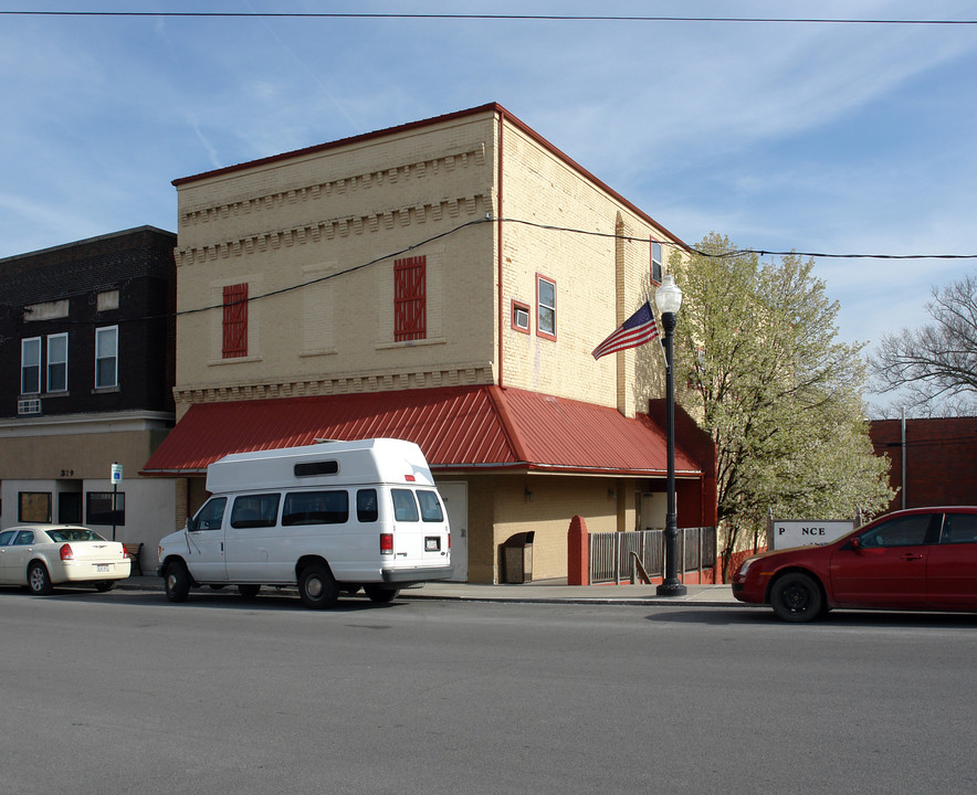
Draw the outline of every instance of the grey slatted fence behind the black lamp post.
[[[715,569],[716,528],[679,529],[679,574]],[[665,531],[590,533],[590,582],[634,582],[638,562],[648,576],[664,576]]]

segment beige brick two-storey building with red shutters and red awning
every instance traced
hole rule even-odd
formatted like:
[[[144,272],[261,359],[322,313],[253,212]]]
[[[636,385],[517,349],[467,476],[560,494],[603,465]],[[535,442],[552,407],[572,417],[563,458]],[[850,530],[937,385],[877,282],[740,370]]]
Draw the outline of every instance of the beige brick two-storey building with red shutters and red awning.
[[[175,186],[178,423],[145,467],[178,478],[175,522],[221,455],[398,435],[447,497],[458,579],[498,581],[525,531],[534,577],[564,576],[575,515],[663,524],[659,346],[591,351],[684,246],[503,107]],[[708,445],[680,438],[677,469],[680,526],[714,523]]]

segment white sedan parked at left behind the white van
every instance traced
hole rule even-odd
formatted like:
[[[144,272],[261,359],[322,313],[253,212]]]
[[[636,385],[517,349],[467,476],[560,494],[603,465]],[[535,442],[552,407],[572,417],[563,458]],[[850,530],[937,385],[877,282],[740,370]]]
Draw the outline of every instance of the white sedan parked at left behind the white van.
[[[27,585],[39,596],[64,583],[108,591],[132,565],[120,542],[88,528],[22,524],[0,531],[0,585]]]

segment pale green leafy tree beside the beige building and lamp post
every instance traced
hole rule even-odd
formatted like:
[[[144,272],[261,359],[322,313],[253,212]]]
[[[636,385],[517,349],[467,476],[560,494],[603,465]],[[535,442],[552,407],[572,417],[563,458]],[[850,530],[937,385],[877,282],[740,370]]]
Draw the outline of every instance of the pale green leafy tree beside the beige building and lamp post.
[[[724,556],[760,543],[769,511],[834,519],[892,498],[861,394],[861,344],[837,340],[838,303],[813,261],[760,262],[712,234],[672,273],[680,400],[716,444]],[[728,571],[724,571],[724,576]]]

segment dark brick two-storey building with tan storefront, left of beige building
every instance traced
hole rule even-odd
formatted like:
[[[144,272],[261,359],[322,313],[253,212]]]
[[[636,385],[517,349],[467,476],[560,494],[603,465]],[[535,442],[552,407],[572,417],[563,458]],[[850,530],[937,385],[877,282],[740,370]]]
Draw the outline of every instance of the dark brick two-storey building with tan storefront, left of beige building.
[[[145,518],[171,502],[166,485],[137,473],[174,423],[176,240],[141,226],[0,259],[2,527],[115,520],[120,540],[150,543],[169,530]]]

